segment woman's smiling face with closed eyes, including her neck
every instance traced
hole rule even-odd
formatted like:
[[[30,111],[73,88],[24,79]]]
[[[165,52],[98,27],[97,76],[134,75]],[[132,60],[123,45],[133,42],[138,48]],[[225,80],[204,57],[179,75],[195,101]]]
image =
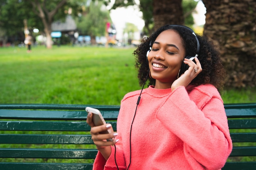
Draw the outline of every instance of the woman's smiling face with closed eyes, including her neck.
[[[151,77],[156,79],[155,88],[170,88],[177,79],[185,57],[180,35],[173,30],[163,31],[153,43],[148,54]]]

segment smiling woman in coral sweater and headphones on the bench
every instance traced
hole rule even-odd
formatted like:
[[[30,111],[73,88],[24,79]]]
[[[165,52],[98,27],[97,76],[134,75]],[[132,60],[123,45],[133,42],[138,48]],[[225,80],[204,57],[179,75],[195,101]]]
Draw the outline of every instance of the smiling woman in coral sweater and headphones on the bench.
[[[150,86],[124,96],[117,133],[99,134],[111,125],[94,126],[88,113],[99,150],[94,170],[221,169],[232,142],[217,90],[225,72],[213,45],[188,27],[166,25],[134,54],[139,82]]]

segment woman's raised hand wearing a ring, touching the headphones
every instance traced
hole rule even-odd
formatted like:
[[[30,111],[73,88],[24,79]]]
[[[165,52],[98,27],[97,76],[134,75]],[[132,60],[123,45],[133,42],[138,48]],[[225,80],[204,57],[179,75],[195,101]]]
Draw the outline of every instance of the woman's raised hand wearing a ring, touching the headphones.
[[[195,63],[190,59],[184,59],[183,62],[189,65],[189,69],[186,70],[184,74],[182,74],[177,80],[173,82],[173,84],[171,85],[172,91],[180,86],[184,86],[184,87],[188,86],[189,83],[191,83],[191,81],[196,76],[198,76],[200,72],[202,72],[202,67],[197,57],[195,57]]]

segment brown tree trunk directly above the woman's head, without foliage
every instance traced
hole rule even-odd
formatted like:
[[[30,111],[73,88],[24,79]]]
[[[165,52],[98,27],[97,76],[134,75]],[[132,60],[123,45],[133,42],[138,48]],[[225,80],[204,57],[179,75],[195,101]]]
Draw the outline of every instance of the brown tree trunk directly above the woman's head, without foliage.
[[[166,24],[184,24],[182,0],[153,0],[154,31]]]

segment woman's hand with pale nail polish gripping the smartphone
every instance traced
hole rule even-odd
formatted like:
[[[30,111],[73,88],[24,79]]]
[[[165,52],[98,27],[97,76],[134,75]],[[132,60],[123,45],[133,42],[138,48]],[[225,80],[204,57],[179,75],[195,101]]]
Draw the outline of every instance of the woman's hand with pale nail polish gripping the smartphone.
[[[111,153],[110,146],[118,142],[118,139],[114,139],[117,137],[117,133],[100,134],[102,131],[112,129],[112,126],[111,124],[94,126],[91,112],[88,113],[86,122],[91,126],[90,133],[92,135],[94,144],[97,146],[97,149],[101,152],[103,157],[107,160]],[[110,138],[113,139],[113,141],[107,141],[107,139]]]

